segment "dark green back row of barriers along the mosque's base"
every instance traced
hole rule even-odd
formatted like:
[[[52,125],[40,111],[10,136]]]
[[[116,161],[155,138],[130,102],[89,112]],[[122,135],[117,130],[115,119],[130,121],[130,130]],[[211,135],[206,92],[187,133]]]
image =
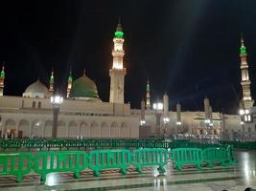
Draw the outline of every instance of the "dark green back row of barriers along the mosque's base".
[[[84,150],[99,148],[209,148],[227,147],[226,144],[206,144],[188,140],[169,141],[164,139],[0,139],[0,150]]]

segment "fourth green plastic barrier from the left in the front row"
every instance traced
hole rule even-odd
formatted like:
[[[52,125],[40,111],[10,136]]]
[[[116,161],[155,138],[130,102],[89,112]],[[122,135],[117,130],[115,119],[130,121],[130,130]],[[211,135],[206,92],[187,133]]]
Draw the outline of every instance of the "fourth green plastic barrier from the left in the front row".
[[[139,173],[142,173],[143,166],[157,165],[158,172],[164,173],[164,166],[167,164],[168,151],[166,149],[137,149],[133,151],[132,165]]]

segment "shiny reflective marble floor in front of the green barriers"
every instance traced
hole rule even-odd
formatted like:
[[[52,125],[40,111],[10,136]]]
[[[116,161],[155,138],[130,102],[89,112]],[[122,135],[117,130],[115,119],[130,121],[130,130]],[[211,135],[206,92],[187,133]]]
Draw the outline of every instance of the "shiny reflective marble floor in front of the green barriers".
[[[169,163],[165,175],[159,175],[156,167],[146,167],[142,174],[128,169],[123,176],[116,169],[105,170],[101,177],[94,177],[92,171],[81,173],[74,179],[71,173],[49,174],[45,182],[39,176],[30,174],[20,183],[14,177],[0,177],[0,190],[176,190],[176,191],[244,191],[248,186],[256,189],[256,151],[237,152],[239,163],[235,166],[187,168],[176,171]]]

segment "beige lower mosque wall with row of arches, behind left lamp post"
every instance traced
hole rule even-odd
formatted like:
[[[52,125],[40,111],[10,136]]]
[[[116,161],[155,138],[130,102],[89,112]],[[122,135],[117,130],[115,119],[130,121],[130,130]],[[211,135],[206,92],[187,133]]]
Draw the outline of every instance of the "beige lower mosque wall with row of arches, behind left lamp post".
[[[1,113],[1,132],[15,138],[51,138],[51,114]],[[58,115],[58,138],[138,138],[139,117]],[[3,136],[3,134],[2,134]]]

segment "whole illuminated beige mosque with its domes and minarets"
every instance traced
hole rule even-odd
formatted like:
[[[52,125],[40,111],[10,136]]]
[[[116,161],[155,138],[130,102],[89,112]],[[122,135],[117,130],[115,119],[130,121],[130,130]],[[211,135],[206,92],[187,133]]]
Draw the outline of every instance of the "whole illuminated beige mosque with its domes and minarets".
[[[113,64],[109,70],[109,102],[98,95],[97,85],[85,71],[73,80],[67,77],[66,96],[60,105],[57,121],[57,138],[145,138],[151,136],[208,135],[224,139],[242,138],[244,121],[241,115],[225,115],[213,112],[208,97],[203,100],[204,111],[182,112],[169,110],[169,97],[163,103],[151,104],[150,82],[146,86],[146,101],[140,109],[131,109],[124,102],[125,76],[123,57],[125,51],[124,32],[119,23],[113,38]],[[245,111],[252,107],[250,84],[244,40],[241,47],[242,86],[244,97],[241,107]],[[52,138],[54,95],[54,71],[50,76],[49,88],[39,79],[28,86],[22,96],[4,95],[5,69],[0,74],[0,137]],[[252,103],[252,105],[249,105]],[[159,107],[158,107],[159,106]],[[256,138],[254,129],[250,138]]]

